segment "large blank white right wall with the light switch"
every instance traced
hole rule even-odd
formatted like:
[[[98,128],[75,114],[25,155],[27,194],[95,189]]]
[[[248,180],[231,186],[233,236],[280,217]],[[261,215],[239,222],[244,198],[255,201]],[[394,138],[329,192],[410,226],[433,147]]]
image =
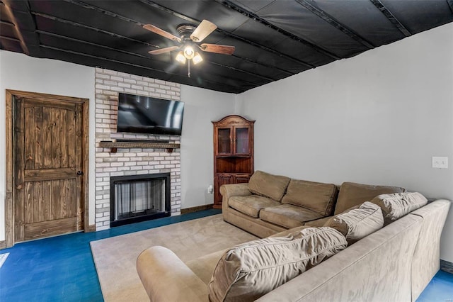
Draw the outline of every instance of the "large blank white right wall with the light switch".
[[[453,24],[237,96],[255,167],[453,200]],[[432,156],[449,169],[432,169]],[[453,262],[453,211],[441,257]]]

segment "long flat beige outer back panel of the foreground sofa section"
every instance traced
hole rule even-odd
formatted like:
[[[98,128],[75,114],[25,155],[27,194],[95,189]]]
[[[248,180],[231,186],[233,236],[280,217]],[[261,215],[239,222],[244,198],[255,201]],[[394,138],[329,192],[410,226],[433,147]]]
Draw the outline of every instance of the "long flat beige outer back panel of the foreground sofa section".
[[[257,302],[411,301],[422,218],[405,216],[348,246]]]

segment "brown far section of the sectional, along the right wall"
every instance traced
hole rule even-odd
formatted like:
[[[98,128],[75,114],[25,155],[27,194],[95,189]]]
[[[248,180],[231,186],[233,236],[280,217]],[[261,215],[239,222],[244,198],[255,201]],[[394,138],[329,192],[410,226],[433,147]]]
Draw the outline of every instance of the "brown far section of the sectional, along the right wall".
[[[255,172],[249,183],[220,187],[224,220],[258,237],[301,225],[314,227],[379,194],[405,191],[398,186],[335,184],[289,179]]]

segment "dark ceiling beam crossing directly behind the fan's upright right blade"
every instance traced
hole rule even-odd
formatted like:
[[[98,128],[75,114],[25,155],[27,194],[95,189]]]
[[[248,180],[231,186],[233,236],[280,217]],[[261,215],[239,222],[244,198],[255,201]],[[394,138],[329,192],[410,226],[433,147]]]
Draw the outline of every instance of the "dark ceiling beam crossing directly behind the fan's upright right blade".
[[[167,9],[166,7],[161,6],[160,4],[156,4],[156,3],[154,3],[153,1],[149,1],[149,0],[140,0],[140,1],[141,1],[142,3],[144,3],[144,4],[147,4],[147,5],[149,5],[149,6],[152,6],[152,7],[156,8],[156,9],[160,9],[161,11],[166,11],[166,13],[170,13],[170,14],[172,14],[173,16],[176,16],[176,17],[178,17],[178,18],[182,18],[182,19],[185,20],[185,21],[189,21],[190,23],[194,23],[195,25],[197,25],[197,24],[200,23],[200,21],[198,21],[198,20],[196,20],[196,19],[194,19],[194,18],[190,18],[190,17],[188,17],[188,16],[185,16],[185,15],[183,15],[183,14],[181,14],[181,13],[178,13],[178,12],[176,12],[176,11],[173,11],[173,10],[171,10],[171,9]],[[277,55],[277,56],[279,56],[279,57],[285,57],[285,59],[287,59],[287,60],[291,60],[291,61],[293,61],[293,62],[297,62],[298,64],[304,65],[304,66],[309,67],[309,68],[314,68],[314,67],[315,67],[314,65],[311,65],[311,64],[309,64],[309,63],[307,63],[307,62],[298,60],[298,59],[296,59],[296,58],[294,58],[294,57],[291,57],[291,56],[289,56],[289,55],[285,55],[285,54],[283,54],[282,52],[278,52],[277,50],[270,49],[269,47],[266,47],[266,46],[264,46],[264,45],[260,45],[260,44],[258,44],[258,43],[255,43],[255,42],[251,41],[251,40],[247,40],[246,38],[239,37],[239,35],[234,35],[233,33],[229,33],[229,32],[227,32],[226,30],[222,30],[221,28],[217,28],[216,30],[217,30],[219,33],[222,33],[222,34],[224,34],[224,35],[226,35],[226,36],[228,36],[228,37],[234,38],[234,39],[236,39],[236,40],[240,40],[240,41],[242,41],[243,43],[247,43],[248,45],[252,45],[252,46],[254,46],[254,47],[258,47],[258,48],[260,48],[260,49],[262,49],[262,50],[265,50],[265,51],[267,51],[267,52],[271,52],[271,53],[273,53],[274,55]]]

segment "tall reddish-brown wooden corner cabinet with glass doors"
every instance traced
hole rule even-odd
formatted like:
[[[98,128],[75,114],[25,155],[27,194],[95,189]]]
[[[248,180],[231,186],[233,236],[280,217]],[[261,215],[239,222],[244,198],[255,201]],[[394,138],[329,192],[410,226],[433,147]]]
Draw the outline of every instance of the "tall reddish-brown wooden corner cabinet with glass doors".
[[[214,208],[222,208],[222,184],[248,182],[253,174],[253,124],[226,116],[214,125]]]

